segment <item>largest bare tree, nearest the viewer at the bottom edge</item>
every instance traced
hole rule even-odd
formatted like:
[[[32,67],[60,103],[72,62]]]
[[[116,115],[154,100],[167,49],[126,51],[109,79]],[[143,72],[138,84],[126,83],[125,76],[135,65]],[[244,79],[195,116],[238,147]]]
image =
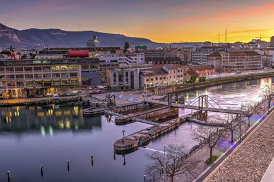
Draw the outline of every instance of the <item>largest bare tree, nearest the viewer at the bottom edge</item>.
[[[176,175],[194,176],[193,170],[199,163],[199,160],[187,158],[188,149],[185,145],[169,145],[166,147],[166,157],[159,151],[155,151],[147,157],[151,164],[147,166],[145,172],[148,175],[161,175],[165,171],[166,177],[170,177],[171,182]]]

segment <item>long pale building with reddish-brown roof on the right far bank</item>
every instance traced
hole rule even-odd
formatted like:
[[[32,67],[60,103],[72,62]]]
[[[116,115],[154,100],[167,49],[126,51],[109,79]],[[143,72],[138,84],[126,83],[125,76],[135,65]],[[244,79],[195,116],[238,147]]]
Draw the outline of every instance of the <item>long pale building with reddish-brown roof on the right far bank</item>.
[[[216,72],[262,69],[262,55],[254,51],[213,52],[208,55],[206,64],[213,65]]]

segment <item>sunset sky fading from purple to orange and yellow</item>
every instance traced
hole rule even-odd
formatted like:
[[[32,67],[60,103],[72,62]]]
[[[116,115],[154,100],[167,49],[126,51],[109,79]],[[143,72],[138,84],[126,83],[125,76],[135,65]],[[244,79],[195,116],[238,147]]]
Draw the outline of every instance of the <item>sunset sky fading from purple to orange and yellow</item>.
[[[0,0],[14,29],[92,30],[155,42],[249,42],[274,35],[274,0]]]

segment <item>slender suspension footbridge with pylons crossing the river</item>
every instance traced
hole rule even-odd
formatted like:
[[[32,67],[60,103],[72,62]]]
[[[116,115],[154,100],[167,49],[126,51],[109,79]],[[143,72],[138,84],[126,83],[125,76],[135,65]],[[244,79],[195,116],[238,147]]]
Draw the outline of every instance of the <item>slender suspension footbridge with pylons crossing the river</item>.
[[[162,104],[166,106],[173,106],[177,108],[188,108],[188,109],[194,109],[194,110],[205,110],[209,112],[223,112],[223,113],[229,113],[229,114],[235,114],[235,115],[248,115],[247,112],[242,110],[234,110],[234,109],[227,109],[222,108],[218,103],[216,103],[212,98],[208,95],[200,95],[192,102],[188,103],[186,100],[186,104],[183,102],[179,103],[177,102],[178,96],[175,95],[175,103],[173,103],[173,95],[172,93],[166,95],[166,97],[163,97],[161,100],[145,100],[146,102],[154,103],[154,104]],[[163,100],[166,100],[163,101]],[[182,98],[181,98],[182,100]],[[214,106],[215,105],[215,106]],[[208,107],[211,106],[211,107]]]

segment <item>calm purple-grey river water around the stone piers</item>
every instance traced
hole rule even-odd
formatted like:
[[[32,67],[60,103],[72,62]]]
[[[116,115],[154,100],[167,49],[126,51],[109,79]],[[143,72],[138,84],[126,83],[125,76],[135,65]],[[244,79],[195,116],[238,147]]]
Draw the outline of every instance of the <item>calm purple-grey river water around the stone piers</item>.
[[[258,93],[264,82],[271,78],[237,82],[199,91],[184,93],[191,101],[207,93],[223,107],[239,107],[241,102],[259,101]],[[190,132],[197,125],[185,123],[177,130],[151,142],[128,155],[116,155],[113,142],[121,136],[145,129],[150,125],[130,123],[115,125],[102,117],[82,117],[83,106],[43,106],[27,108],[0,108],[0,181],[7,181],[10,170],[16,181],[142,181],[147,153],[162,151],[164,145],[184,143],[188,148],[196,145]],[[191,110],[180,110],[184,115]],[[225,115],[209,113],[209,120],[225,119]],[[252,121],[258,119],[256,116]],[[94,156],[91,166],[90,155]],[[70,160],[67,171],[66,160]],[[40,165],[44,177],[40,177]]]

